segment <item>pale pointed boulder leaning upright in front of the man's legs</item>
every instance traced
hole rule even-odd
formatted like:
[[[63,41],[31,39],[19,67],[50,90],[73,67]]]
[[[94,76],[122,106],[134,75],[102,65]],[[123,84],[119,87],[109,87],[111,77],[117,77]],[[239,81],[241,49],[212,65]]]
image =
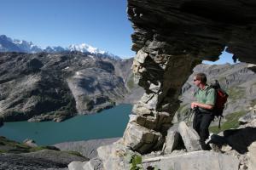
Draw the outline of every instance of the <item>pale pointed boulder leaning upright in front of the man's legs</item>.
[[[192,127],[188,127],[185,122],[180,122],[178,132],[188,151],[201,150],[200,137]]]

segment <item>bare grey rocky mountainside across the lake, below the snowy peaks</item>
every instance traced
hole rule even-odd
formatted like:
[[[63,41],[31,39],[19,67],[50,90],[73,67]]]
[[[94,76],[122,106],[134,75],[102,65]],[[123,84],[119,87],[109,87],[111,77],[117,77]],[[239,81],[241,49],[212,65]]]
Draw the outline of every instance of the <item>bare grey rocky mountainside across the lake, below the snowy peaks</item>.
[[[6,122],[60,122],[124,102],[135,89],[127,84],[133,80],[131,60],[79,52],[1,53],[1,116]]]

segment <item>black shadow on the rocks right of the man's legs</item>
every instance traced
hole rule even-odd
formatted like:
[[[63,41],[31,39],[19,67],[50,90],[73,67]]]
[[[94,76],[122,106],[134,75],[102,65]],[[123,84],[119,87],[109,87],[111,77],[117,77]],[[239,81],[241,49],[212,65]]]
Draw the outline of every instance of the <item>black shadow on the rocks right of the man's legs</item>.
[[[254,141],[256,141],[256,127],[245,127],[226,130],[223,136],[213,134],[210,143],[217,144],[218,148],[224,144],[229,144],[233,150],[245,154],[248,151],[247,147]]]

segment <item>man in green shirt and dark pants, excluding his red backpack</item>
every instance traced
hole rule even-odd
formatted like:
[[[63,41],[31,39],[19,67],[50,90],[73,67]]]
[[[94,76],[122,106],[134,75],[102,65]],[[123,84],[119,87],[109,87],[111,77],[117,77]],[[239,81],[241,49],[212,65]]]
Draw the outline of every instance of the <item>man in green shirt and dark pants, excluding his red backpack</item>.
[[[214,119],[213,107],[217,94],[214,88],[207,85],[207,76],[204,73],[197,73],[193,81],[198,87],[195,92],[196,101],[191,103],[191,108],[195,109],[193,128],[200,136],[201,148],[211,150],[209,144],[206,144],[206,140],[209,137],[208,127]]]

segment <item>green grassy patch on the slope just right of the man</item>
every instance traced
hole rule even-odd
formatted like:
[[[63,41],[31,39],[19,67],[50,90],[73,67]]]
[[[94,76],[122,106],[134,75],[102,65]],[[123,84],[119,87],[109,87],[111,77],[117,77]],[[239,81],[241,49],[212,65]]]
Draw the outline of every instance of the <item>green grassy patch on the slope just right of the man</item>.
[[[227,121],[224,123],[221,123],[220,124],[221,126],[219,129],[218,129],[218,126],[213,126],[213,127],[210,127],[209,130],[212,133],[220,133],[221,131],[224,131],[230,128],[237,128],[239,127],[238,119],[241,116],[244,116],[245,114],[246,114],[246,111],[237,111],[237,112],[231,113],[224,117]]]

